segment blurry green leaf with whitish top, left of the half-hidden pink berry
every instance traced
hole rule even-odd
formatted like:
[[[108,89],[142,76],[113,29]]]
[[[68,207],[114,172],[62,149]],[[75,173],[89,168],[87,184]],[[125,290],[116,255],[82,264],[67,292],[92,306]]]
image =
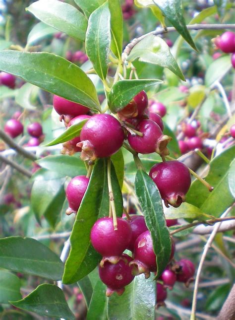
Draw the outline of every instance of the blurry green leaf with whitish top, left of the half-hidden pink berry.
[[[64,179],[36,180],[31,191],[31,205],[37,221],[44,216],[55,228],[62,209],[65,192]]]

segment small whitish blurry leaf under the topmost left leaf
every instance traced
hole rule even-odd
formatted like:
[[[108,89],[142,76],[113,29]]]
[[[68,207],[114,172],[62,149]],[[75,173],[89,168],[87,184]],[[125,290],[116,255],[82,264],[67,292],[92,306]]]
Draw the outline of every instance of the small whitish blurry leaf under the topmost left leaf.
[[[50,27],[48,24],[39,22],[32,28],[32,30],[28,34],[27,45],[34,46],[41,40],[47,39],[49,36],[57,32],[58,30],[56,30],[53,27]]]

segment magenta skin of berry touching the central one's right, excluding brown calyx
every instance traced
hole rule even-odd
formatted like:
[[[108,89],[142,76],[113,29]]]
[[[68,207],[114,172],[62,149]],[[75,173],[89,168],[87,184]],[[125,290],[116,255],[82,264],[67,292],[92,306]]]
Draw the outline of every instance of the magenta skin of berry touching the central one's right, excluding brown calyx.
[[[143,136],[128,133],[130,146],[142,154],[155,152],[158,139],[163,135],[161,128],[152,120],[142,120],[136,129],[142,132]]]

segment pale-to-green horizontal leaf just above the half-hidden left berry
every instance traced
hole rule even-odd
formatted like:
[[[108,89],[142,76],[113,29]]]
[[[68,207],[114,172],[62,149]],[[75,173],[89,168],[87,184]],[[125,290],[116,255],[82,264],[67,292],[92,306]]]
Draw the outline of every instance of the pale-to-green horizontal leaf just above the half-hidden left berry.
[[[37,163],[45,169],[59,172],[60,177],[75,177],[86,175],[84,161],[76,156],[53,155],[39,159]]]

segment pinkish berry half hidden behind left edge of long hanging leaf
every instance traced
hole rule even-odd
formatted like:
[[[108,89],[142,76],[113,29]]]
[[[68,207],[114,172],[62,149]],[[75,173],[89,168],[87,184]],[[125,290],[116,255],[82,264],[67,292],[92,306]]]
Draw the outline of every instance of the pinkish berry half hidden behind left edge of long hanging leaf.
[[[66,214],[77,213],[84,193],[86,192],[89,179],[86,176],[76,176],[72,178],[66,189],[68,199],[68,209]]]

